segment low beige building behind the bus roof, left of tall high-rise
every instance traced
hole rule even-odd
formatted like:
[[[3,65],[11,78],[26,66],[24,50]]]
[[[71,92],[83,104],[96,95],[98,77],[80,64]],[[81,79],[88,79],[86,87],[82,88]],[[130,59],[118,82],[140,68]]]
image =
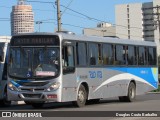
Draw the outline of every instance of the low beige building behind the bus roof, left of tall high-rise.
[[[84,35],[89,36],[116,36],[116,28],[109,23],[99,23],[96,28],[85,28]]]

